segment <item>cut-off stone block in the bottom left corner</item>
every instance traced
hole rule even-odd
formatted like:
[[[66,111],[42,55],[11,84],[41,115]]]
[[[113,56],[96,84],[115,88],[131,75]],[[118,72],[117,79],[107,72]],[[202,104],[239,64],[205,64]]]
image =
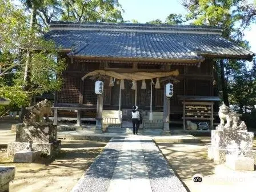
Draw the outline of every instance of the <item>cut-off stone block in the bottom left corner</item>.
[[[0,192],[9,191],[9,182],[14,176],[15,167],[0,166]]]

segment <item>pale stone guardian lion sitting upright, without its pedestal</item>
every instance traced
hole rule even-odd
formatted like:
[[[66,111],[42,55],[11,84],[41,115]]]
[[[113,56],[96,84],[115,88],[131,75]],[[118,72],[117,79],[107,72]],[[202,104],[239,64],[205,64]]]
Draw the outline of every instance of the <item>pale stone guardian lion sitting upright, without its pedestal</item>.
[[[221,123],[217,130],[247,130],[245,122],[240,121],[239,115],[225,104],[219,107],[219,119]]]

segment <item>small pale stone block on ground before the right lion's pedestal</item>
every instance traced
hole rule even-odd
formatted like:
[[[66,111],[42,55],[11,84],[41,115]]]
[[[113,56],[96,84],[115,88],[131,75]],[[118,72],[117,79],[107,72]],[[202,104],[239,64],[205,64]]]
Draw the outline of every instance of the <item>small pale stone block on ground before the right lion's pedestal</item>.
[[[254,159],[237,155],[226,155],[226,166],[233,170],[254,171]]]

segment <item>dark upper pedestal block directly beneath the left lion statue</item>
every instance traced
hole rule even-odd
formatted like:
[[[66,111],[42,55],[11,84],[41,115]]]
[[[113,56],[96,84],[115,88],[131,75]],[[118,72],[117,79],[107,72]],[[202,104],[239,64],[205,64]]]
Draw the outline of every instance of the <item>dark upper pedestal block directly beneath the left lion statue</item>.
[[[17,142],[51,143],[57,139],[57,125],[17,126]]]

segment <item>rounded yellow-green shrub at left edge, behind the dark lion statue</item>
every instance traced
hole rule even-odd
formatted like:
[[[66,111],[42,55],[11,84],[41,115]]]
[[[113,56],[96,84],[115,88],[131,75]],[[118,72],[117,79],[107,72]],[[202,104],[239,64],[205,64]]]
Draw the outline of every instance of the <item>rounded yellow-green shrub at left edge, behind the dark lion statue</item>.
[[[11,100],[9,105],[0,105],[0,117],[29,103],[28,94],[19,86],[0,86],[0,96]]]

